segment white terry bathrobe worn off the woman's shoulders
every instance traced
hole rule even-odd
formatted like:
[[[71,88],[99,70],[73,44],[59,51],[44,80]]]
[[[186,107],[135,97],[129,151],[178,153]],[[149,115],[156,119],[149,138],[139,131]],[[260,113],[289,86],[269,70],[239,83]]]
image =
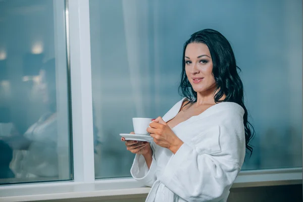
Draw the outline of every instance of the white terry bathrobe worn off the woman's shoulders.
[[[165,122],[178,114],[183,100],[165,114]],[[136,155],[131,175],[151,186],[146,201],[226,201],[245,157],[243,115],[236,103],[216,104],[172,128],[184,142],[175,155],[151,142],[149,170]]]

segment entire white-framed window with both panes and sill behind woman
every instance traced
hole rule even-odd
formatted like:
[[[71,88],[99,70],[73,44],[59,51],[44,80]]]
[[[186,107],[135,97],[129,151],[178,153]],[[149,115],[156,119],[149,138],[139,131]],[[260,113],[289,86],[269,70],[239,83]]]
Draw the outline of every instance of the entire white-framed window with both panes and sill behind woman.
[[[180,100],[183,43],[204,28],[230,40],[257,131],[233,187],[301,184],[301,6],[0,0],[0,200],[145,197],[119,133]]]

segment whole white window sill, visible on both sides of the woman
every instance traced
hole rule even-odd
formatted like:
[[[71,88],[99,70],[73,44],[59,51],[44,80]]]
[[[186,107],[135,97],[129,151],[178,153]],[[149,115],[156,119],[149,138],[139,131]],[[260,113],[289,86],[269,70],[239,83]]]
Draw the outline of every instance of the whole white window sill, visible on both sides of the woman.
[[[302,168],[241,171],[232,188],[302,183]],[[94,183],[48,182],[0,186],[0,201],[37,201],[90,198],[119,199],[144,197],[150,187],[134,179],[96,180]]]

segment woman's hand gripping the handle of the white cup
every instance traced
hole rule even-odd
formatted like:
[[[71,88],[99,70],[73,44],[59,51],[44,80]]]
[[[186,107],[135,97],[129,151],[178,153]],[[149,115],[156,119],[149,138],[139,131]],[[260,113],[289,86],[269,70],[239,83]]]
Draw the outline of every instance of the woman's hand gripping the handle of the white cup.
[[[172,129],[167,125],[161,117],[153,120],[154,123],[150,123],[146,130],[150,136],[154,138],[154,142],[159,146],[168,148],[173,154],[176,154],[177,150],[183,144],[183,141],[175,135]]]

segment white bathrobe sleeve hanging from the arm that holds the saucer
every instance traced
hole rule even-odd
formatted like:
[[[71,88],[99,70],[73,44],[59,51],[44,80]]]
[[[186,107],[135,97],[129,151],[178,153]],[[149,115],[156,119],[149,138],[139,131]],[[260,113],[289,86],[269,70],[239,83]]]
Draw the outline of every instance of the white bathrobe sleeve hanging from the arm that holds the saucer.
[[[153,161],[148,169],[143,155],[136,155],[133,165],[130,169],[132,177],[145,186],[153,186],[157,180],[157,161],[155,158],[155,151],[157,145],[154,142],[150,143],[151,149],[153,149]]]

